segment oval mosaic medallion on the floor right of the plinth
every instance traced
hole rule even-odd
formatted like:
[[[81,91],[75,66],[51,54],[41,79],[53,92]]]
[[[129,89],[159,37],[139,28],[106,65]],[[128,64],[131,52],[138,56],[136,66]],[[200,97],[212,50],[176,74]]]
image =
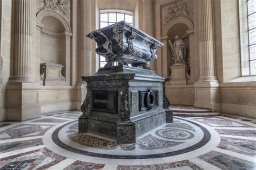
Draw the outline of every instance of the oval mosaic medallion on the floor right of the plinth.
[[[191,139],[194,137],[193,133],[179,129],[160,129],[156,131],[156,134],[167,139]]]

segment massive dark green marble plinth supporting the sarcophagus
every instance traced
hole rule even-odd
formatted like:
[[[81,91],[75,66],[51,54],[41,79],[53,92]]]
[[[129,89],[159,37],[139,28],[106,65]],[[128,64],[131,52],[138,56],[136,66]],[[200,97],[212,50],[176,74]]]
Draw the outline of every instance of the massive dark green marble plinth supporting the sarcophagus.
[[[135,143],[136,137],[172,122],[165,96],[165,78],[147,69],[117,66],[82,77],[87,95],[79,117],[79,132],[90,132]]]

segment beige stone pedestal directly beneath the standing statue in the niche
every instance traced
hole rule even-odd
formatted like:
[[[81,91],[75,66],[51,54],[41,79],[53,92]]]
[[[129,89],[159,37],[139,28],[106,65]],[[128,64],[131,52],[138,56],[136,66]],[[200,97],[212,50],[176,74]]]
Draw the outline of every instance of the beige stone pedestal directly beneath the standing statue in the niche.
[[[172,65],[171,69],[171,81],[170,84],[187,84],[186,80],[186,65]]]

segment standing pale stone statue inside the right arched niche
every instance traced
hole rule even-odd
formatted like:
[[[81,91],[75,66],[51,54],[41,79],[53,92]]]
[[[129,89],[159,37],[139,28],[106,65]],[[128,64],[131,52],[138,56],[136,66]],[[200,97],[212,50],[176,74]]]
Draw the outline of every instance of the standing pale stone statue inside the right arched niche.
[[[186,44],[179,38],[178,35],[175,36],[175,41],[171,42],[169,40],[169,44],[171,46],[172,51],[172,59],[174,60],[174,65],[178,64],[186,64]]]

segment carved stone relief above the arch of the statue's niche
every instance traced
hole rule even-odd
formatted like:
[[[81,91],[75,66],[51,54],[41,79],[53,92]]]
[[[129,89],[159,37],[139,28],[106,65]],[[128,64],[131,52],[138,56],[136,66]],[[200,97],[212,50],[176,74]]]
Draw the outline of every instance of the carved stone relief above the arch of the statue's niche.
[[[169,23],[172,19],[178,18],[178,17],[185,17],[185,18],[188,18],[190,20],[193,20],[193,12],[183,2],[171,5],[168,8],[168,13],[165,17],[164,25]]]

